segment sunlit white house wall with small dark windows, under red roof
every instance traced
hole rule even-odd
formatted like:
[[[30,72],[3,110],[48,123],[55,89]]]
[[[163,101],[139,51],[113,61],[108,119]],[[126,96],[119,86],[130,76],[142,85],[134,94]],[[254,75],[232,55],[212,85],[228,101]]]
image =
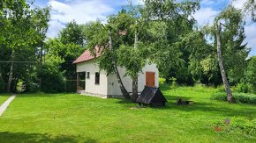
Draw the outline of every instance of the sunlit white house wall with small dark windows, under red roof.
[[[85,61],[77,64],[77,72],[90,72],[90,78],[86,78],[85,91],[95,95],[108,95],[108,78],[104,71],[100,72],[94,61]],[[100,72],[100,84],[95,84],[95,73]]]

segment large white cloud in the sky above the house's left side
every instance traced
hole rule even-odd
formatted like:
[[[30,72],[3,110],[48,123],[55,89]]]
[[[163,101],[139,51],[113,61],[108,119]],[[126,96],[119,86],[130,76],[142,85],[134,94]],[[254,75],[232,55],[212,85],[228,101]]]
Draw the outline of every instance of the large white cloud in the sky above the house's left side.
[[[106,16],[112,14],[115,9],[104,2],[104,0],[65,0],[64,2],[50,0],[51,19],[48,37],[55,37],[57,32],[64,28],[64,24],[72,20],[78,24],[85,24],[96,19],[106,21]]]

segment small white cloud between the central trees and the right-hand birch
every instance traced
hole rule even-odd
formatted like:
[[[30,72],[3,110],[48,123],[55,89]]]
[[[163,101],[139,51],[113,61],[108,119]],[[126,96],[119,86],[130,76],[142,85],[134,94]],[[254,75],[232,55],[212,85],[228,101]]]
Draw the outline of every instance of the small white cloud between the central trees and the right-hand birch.
[[[198,21],[199,25],[212,24],[214,22],[215,16],[219,11],[215,11],[212,8],[202,8],[200,11],[196,11],[193,17]]]

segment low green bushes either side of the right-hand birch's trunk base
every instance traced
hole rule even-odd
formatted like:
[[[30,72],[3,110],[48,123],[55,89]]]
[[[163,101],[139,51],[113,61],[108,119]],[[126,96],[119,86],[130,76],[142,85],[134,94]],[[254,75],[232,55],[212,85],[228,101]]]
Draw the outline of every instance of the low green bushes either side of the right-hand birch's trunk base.
[[[236,98],[237,102],[243,104],[256,104],[256,95],[249,93],[237,93],[234,92],[233,96]],[[212,94],[211,99],[227,101],[227,96],[225,92],[216,92]]]

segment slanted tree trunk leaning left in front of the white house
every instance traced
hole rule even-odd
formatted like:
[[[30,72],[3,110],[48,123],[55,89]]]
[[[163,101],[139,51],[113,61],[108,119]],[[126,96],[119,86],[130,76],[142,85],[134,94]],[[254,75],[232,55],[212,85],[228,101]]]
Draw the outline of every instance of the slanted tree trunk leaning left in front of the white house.
[[[114,52],[114,49],[113,49],[113,43],[112,43],[112,38],[111,38],[111,35],[110,35],[110,31],[109,31],[109,48],[112,52]],[[130,95],[129,93],[127,92],[127,90],[125,89],[124,87],[124,83],[122,82],[122,79],[121,79],[121,76],[119,74],[119,71],[118,71],[118,68],[117,68],[117,61],[115,58],[113,58],[113,66],[114,66],[114,73],[115,75],[117,76],[117,82],[119,84],[119,87],[121,89],[121,92],[123,94],[123,97],[126,98],[126,99],[130,99]]]

